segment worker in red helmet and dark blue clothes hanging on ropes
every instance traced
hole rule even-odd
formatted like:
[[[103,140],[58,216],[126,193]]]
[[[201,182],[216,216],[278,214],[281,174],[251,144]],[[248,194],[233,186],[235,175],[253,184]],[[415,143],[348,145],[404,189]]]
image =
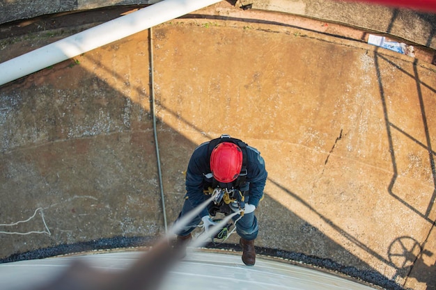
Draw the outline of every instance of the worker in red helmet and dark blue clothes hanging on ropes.
[[[205,142],[196,147],[189,160],[185,179],[187,193],[177,220],[210,198],[205,194],[208,189],[219,188],[222,192],[233,193],[230,197],[233,202],[228,207],[240,211],[233,220],[237,221],[235,227],[240,236],[242,261],[247,266],[253,266],[256,262],[254,240],[258,236],[258,220],[254,211],[263,198],[266,179],[265,161],[256,148],[228,135]],[[176,245],[189,243],[191,232],[201,222],[205,231],[216,224],[210,218],[209,210],[210,207],[203,209],[178,232]]]

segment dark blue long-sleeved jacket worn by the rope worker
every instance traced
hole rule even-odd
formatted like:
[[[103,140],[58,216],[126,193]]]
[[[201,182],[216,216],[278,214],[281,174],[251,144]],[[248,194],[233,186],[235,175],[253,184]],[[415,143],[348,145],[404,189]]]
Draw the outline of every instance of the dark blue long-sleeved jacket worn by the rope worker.
[[[205,184],[212,184],[212,172],[210,172],[210,156],[208,156],[209,142],[205,142],[194,150],[189,160],[186,172],[186,191],[189,201],[194,207],[205,201],[203,188]],[[258,207],[260,198],[267,179],[265,161],[260,152],[254,147],[247,146],[247,184],[249,183],[249,204]],[[240,188],[237,188],[240,189]],[[204,209],[201,216],[207,216],[208,210]]]

